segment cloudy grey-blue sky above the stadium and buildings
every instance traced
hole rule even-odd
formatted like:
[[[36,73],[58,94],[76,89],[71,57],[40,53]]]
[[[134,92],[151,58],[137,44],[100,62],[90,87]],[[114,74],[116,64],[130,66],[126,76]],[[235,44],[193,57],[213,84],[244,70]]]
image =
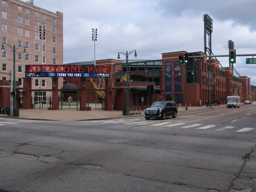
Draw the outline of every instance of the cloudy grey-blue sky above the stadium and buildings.
[[[256,0],[34,0],[34,5],[63,13],[64,64],[94,61],[92,28],[98,34],[96,60],[117,59],[118,52],[132,50],[138,60],[204,52],[204,14],[213,20],[214,55],[228,55],[228,40],[236,54],[256,54]],[[256,85],[256,64],[246,64],[246,58],[252,56],[237,56],[234,68]],[[229,66],[228,57],[217,59]]]

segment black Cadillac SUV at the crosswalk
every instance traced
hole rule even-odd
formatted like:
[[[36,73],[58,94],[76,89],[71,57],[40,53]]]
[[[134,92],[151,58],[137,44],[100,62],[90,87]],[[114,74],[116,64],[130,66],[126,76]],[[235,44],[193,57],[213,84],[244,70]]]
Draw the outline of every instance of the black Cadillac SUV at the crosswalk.
[[[150,108],[146,108],[144,116],[146,120],[150,118],[166,119],[166,116],[172,115],[172,118],[176,118],[178,107],[174,101],[158,101],[154,102]]]

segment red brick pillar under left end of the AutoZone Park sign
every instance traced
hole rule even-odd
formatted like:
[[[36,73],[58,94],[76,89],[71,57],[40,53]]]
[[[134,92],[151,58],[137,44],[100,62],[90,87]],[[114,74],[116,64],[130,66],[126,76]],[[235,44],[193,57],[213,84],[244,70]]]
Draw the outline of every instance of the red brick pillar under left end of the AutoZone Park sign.
[[[23,109],[32,109],[32,78],[23,78]],[[17,101],[16,101],[17,103]]]

